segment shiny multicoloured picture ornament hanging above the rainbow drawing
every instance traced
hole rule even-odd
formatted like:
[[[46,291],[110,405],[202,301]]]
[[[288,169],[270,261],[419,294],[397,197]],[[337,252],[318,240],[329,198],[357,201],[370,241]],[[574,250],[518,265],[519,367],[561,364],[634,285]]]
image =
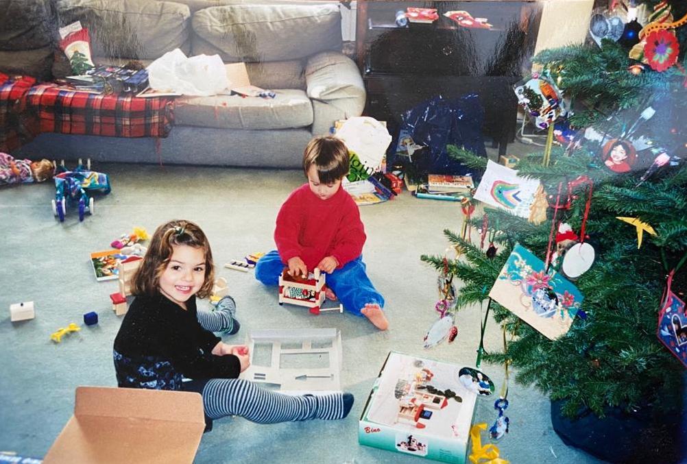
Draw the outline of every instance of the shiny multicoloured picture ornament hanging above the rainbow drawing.
[[[548,128],[565,113],[561,91],[556,84],[538,73],[515,84],[515,95],[518,104],[534,119],[534,124],[540,129]]]

